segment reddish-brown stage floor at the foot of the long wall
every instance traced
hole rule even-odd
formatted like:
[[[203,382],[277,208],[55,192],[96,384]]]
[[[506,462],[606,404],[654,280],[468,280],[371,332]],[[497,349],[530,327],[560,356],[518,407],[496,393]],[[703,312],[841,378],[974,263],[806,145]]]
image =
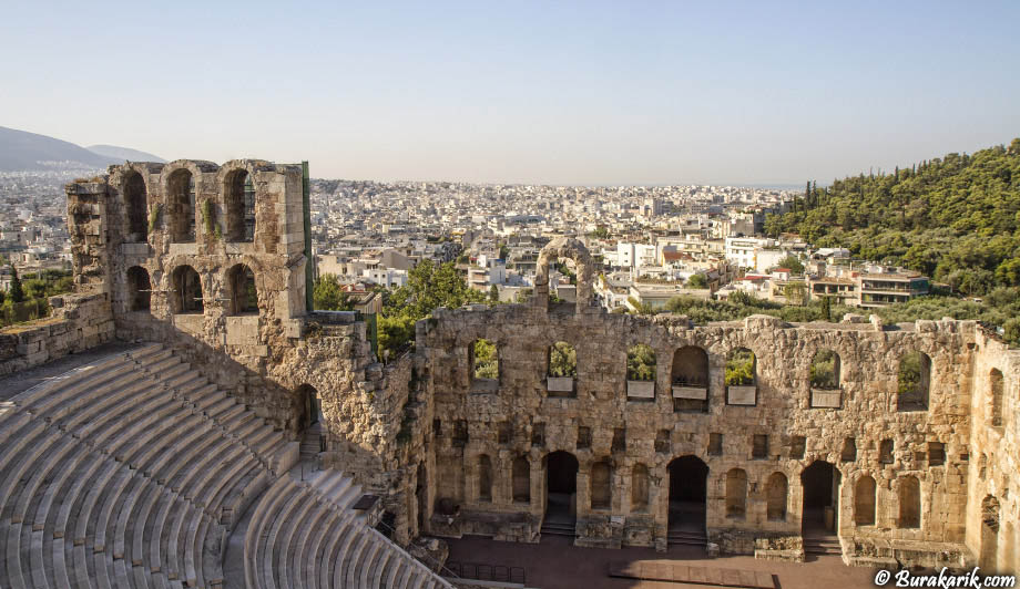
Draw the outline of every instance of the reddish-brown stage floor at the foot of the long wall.
[[[838,556],[808,557],[808,562],[773,562],[751,556],[708,559],[697,547],[675,546],[665,554],[652,548],[579,548],[573,540],[547,537],[541,544],[502,542],[466,537],[447,540],[450,560],[523,567],[527,587],[537,589],[680,589],[704,587],[679,582],[616,579],[608,576],[609,564],[620,560],[676,561],[690,566],[763,571],[778,579],[776,589],[875,587],[875,571],[847,567]]]

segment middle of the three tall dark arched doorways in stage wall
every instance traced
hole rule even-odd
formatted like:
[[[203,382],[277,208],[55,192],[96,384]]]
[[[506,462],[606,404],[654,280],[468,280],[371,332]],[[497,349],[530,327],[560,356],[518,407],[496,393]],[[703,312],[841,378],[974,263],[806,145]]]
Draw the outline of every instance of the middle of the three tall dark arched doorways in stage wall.
[[[708,465],[697,456],[674,458],[670,473],[670,541],[704,541],[708,498]]]

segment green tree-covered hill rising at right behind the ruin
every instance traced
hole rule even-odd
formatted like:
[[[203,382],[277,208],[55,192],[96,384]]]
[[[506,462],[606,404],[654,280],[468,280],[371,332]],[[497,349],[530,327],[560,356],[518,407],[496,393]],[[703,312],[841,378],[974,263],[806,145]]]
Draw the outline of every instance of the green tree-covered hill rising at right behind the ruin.
[[[1020,138],[808,187],[766,232],[911,268],[965,294],[1020,286]]]

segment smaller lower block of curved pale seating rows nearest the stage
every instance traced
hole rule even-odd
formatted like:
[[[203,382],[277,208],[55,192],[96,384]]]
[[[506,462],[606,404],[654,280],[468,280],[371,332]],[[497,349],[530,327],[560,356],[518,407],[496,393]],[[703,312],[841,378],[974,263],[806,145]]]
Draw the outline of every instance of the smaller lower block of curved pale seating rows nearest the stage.
[[[367,526],[360,490],[340,473],[280,477],[259,499],[244,540],[249,589],[432,589],[452,586]]]

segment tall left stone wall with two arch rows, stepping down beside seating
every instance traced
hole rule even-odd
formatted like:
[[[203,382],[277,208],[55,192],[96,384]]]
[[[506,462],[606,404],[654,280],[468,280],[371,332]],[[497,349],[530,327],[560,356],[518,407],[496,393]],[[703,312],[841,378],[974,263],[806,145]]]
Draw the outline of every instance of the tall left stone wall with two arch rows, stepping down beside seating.
[[[181,169],[195,179],[194,242],[175,242],[171,235],[170,183]],[[226,180],[238,169],[255,186],[252,241],[225,237]],[[130,231],[125,188],[133,174],[141,175],[146,211],[156,219],[144,240]],[[71,184],[68,194],[76,288],[104,303],[108,339],[115,327],[120,340],[172,347],[294,438],[302,430],[304,399],[298,393],[313,386],[323,410],[323,464],[345,471],[366,493],[381,497],[396,515],[398,540],[417,534],[417,506],[407,500],[405,488],[414,490],[415,485],[415,473],[405,466],[417,465],[412,456],[427,454],[424,420],[415,418],[426,404],[408,399],[416,360],[406,356],[384,368],[365,323],[356,322],[353,313],[306,312],[300,166],[247,159],[222,166],[135,163],[112,166],[109,175],[93,182]],[[215,218],[213,231],[205,223],[205,202]],[[238,264],[254,273],[257,313],[231,313],[227,271]],[[185,265],[201,277],[201,313],[174,313],[172,275]],[[131,309],[128,270],[133,267],[144,268],[150,277],[147,310]],[[402,418],[405,413],[411,418]],[[406,432],[398,436],[401,426]]]

